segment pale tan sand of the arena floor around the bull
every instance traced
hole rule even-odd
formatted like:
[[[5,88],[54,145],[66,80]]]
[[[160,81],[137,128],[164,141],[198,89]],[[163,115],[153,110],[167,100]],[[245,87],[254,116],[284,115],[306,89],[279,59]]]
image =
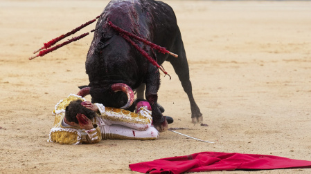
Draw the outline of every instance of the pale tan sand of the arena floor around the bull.
[[[155,141],[46,142],[55,104],[89,83],[93,35],[32,61],[42,43],[100,14],[108,1],[0,1],[0,173],[135,173],[128,164],[202,151],[311,160],[311,2],[165,1],[184,39],[204,124],[170,64],[159,103],[175,118]],[[78,32],[89,32],[95,24]],[[76,36],[76,35],[75,35]],[[311,173],[311,169],[211,173]]]

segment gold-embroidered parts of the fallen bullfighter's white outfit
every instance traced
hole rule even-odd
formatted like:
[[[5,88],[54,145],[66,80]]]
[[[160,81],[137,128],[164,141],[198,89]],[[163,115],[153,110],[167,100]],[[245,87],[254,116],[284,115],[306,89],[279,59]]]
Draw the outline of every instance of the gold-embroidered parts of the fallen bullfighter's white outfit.
[[[107,136],[116,137],[116,139],[118,139],[116,135],[105,135],[101,133],[99,126],[105,125],[103,119],[112,122],[123,122],[124,126],[129,126],[139,131],[145,131],[152,123],[151,112],[147,108],[141,109],[140,112],[143,114],[136,114],[128,110],[109,108],[103,106],[103,104],[96,104],[99,113],[97,113],[98,117],[91,119],[94,125],[94,128],[91,130],[80,129],[75,126],[62,126],[66,106],[68,106],[71,101],[78,99],[86,101],[83,97],[71,94],[55,105],[55,110],[52,112],[55,115],[55,121],[53,128],[51,128],[48,142],[57,142],[60,144],[98,143],[102,137],[103,139],[107,139]],[[150,137],[148,139],[156,138],[157,137]]]

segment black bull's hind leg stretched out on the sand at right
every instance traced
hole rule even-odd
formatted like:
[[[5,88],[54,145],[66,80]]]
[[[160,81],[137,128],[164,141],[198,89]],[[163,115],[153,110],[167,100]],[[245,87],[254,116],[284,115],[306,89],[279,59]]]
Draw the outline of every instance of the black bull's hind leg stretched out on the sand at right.
[[[202,122],[202,113],[200,112],[199,107],[197,106],[197,104],[195,103],[195,99],[193,98],[192,85],[189,77],[188,61],[184,49],[184,43],[181,39],[180,31],[178,31],[177,33],[172,52],[177,53],[178,58],[170,56],[167,61],[170,61],[170,64],[172,64],[172,67],[174,68],[176,74],[179,77],[179,80],[181,81],[181,85],[184,88],[184,91],[188,95],[190,101],[192,122]]]

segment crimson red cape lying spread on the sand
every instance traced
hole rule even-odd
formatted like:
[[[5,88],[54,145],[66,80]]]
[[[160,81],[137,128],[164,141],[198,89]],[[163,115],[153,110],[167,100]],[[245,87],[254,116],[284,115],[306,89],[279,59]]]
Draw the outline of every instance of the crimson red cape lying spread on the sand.
[[[276,168],[311,168],[311,161],[293,160],[272,155],[202,152],[167,157],[151,162],[130,164],[141,173],[184,173],[200,171],[266,170]]]

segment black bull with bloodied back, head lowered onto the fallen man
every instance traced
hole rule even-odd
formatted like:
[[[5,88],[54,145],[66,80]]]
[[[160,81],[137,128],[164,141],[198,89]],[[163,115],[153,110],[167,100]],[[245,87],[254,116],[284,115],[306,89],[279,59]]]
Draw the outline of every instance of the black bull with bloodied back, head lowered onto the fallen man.
[[[85,63],[92,102],[120,108],[126,104],[127,96],[121,92],[114,93],[111,89],[112,84],[127,84],[133,90],[145,84],[145,98],[152,106],[153,124],[159,131],[165,131],[167,128],[167,122],[157,107],[159,69],[109,26],[108,21],[179,55],[178,58],[164,55],[152,50],[150,46],[136,42],[157,60],[159,65],[164,61],[172,64],[190,100],[193,122],[202,121],[202,113],[193,99],[186,52],[175,13],[170,6],[161,1],[110,1],[100,15]]]

